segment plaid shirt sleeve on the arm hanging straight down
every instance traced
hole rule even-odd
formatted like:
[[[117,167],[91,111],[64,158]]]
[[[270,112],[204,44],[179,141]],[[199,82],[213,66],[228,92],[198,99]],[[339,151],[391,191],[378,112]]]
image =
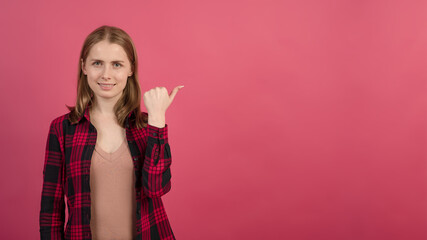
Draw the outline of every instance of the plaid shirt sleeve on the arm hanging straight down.
[[[65,202],[63,154],[59,141],[61,124],[52,121],[46,144],[39,224],[40,239],[64,239]]]

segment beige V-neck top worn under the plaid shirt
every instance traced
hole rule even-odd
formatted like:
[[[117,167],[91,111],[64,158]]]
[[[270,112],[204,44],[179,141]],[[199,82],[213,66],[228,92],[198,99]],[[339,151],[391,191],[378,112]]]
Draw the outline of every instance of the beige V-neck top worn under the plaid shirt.
[[[136,236],[135,174],[127,141],[113,153],[98,144],[90,166],[92,239],[130,240]]]

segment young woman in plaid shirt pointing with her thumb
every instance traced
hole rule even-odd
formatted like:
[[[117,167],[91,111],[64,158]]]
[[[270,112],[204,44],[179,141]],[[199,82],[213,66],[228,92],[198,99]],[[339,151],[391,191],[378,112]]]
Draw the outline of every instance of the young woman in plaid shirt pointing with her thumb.
[[[76,105],[50,124],[41,239],[175,239],[161,197],[171,188],[165,113],[182,87],[145,92],[141,112],[129,35],[102,26],[87,36]]]

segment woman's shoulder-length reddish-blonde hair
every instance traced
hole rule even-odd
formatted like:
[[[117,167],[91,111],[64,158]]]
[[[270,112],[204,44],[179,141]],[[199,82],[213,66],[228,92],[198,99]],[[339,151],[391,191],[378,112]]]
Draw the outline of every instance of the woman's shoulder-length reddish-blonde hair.
[[[128,59],[131,63],[132,76],[128,77],[128,81],[121,98],[114,106],[114,112],[118,119],[119,124],[125,127],[126,117],[130,112],[135,114],[135,125],[137,128],[147,126],[146,114],[141,113],[141,89],[138,80],[138,57],[136,49],[130,36],[120,28],[103,25],[93,32],[91,32],[85,39],[83,47],[80,52],[79,70],[77,80],[77,99],[75,106],[67,106],[70,110],[69,119],[71,123],[76,123],[83,115],[84,110],[88,104],[93,102],[93,91],[90,89],[87,76],[83,73],[81,68],[81,59],[83,62],[89,54],[91,48],[98,42],[107,40],[109,43],[120,45],[126,52]],[[130,122],[129,122],[130,123]]]

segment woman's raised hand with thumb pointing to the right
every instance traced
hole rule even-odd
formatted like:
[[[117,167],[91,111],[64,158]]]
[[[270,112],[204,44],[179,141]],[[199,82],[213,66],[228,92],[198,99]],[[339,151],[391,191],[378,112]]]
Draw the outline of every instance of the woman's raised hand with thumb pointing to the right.
[[[143,100],[147,108],[148,124],[159,128],[165,126],[166,110],[171,105],[177,92],[183,87],[175,87],[170,95],[165,87],[155,87],[144,93]]]

